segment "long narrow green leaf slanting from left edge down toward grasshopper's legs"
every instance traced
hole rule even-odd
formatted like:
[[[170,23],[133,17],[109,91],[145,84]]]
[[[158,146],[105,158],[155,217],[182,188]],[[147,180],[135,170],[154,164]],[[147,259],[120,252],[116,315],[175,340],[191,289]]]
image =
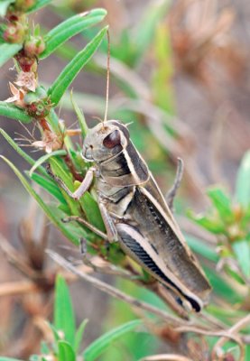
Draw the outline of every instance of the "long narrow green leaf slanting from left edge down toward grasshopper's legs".
[[[8,159],[6,159],[3,155],[0,155],[0,158],[2,158],[14,171],[15,175],[21,180],[23,187],[25,190],[27,190],[30,195],[35,199],[40,207],[43,209],[43,211],[46,213],[47,217],[51,220],[51,222],[60,229],[61,233],[66,236],[72,243],[75,245],[79,245],[79,238],[77,236],[74,236],[72,232],[68,230],[65,225],[60,222],[60,219],[55,216],[55,213],[51,211],[51,208],[48,207],[42,200],[42,198],[35,192],[35,190],[32,189],[32,186],[29,184],[27,180],[23,177],[23,174],[18,171],[18,169],[14,166],[12,162],[10,162]]]

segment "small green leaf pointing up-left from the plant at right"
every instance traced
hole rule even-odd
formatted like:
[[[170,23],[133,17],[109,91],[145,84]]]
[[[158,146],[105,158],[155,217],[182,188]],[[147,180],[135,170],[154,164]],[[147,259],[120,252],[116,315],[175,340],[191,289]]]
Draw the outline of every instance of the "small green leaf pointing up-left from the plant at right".
[[[232,210],[231,199],[220,188],[210,188],[208,197],[212,200],[214,206],[217,208],[220,218],[227,222],[234,220],[234,213]]]

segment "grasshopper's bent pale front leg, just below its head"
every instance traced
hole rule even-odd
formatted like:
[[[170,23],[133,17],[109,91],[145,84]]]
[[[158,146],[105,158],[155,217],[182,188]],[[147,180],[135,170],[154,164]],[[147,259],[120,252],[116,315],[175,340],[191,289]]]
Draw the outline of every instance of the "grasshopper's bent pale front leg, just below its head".
[[[71,190],[69,190],[69,188],[66,186],[66,184],[62,180],[60,180],[60,178],[58,176],[53,174],[53,172],[51,171],[50,165],[47,166],[47,172],[51,175],[53,180],[55,180],[60,185],[60,188],[62,188],[63,190],[66,191],[66,193],[69,195],[69,197],[71,197],[73,199],[80,199],[84,195],[84,193],[89,189],[89,187],[94,179],[94,174],[96,172],[96,168],[91,167],[88,169],[84,180],[82,180],[81,184],[79,185],[79,188],[77,190],[75,190],[74,192],[71,192]]]

